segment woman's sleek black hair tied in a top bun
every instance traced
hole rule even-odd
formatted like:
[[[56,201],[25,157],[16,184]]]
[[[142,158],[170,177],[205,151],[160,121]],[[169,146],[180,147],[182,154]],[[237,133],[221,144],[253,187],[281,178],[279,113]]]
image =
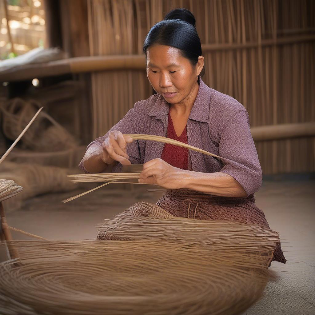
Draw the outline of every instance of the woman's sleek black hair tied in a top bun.
[[[194,15],[184,8],[171,10],[164,20],[152,26],[144,41],[143,52],[146,54],[147,49],[154,44],[179,49],[181,55],[195,66],[202,50]]]

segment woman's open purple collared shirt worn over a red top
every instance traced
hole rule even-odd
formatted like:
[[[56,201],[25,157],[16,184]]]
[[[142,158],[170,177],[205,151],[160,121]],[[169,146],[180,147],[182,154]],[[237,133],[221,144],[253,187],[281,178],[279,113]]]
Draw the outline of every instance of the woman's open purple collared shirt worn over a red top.
[[[166,136],[169,103],[162,95],[155,94],[140,100],[111,130],[123,134]],[[88,146],[104,141],[106,135]],[[188,144],[222,157],[224,164],[214,157],[189,150],[189,169],[196,172],[224,172],[234,177],[244,188],[247,196],[261,187],[262,173],[255,144],[250,134],[246,109],[231,96],[209,88],[199,77],[199,90],[187,121]],[[127,144],[132,164],[142,164],[161,157],[164,143],[134,140]],[[83,161],[79,168],[83,167]],[[120,172],[117,163],[112,171]]]

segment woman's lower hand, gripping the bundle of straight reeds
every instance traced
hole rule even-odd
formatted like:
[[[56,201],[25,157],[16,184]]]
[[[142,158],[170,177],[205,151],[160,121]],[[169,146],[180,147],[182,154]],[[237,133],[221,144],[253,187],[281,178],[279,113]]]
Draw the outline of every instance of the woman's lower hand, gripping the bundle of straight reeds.
[[[143,164],[139,175],[139,183],[161,186],[165,189],[184,188],[185,171],[166,163],[161,158],[155,158]]]

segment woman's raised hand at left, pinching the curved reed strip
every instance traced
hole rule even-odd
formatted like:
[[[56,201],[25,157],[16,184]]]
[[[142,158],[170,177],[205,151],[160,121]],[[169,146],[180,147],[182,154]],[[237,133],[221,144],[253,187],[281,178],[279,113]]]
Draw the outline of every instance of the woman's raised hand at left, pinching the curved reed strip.
[[[132,141],[131,137],[123,135],[118,130],[111,131],[102,143],[102,152],[100,154],[102,161],[106,164],[118,161],[123,165],[131,165],[126,145]]]

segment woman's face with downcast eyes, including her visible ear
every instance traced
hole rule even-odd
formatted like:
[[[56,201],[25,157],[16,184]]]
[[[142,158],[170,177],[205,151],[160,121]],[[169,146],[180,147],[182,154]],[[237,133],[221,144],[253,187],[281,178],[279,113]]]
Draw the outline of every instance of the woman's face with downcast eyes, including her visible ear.
[[[150,46],[146,55],[146,73],[153,89],[170,104],[189,100],[203,68],[203,57],[193,66],[179,49],[165,45]]]

